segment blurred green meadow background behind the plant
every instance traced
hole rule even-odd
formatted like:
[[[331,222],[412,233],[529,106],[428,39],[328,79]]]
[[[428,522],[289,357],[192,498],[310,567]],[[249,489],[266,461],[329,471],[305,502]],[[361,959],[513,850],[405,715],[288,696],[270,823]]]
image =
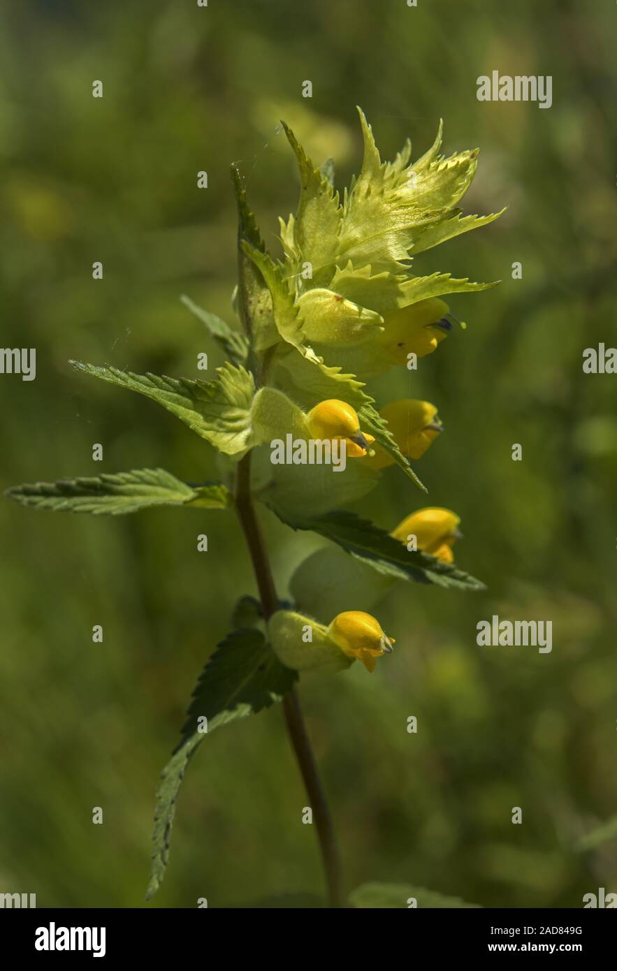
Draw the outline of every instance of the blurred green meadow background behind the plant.
[[[179,295],[231,319],[233,160],[276,251],[297,197],[280,117],[317,162],[334,156],[338,187],[360,166],[356,104],[385,157],[407,135],[421,154],[443,117],[444,151],[481,148],[465,211],[508,206],[415,265],[503,281],[451,299],[469,326],[411,386],[446,425],[419,466],[429,502],[462,517],[457,561],[488,592],[397,587],[379,609],[394,655],[372,677],[355,665],[301,686],[349,889],[409,882],[498,907],[617,890],[617,841],[575,849],[617,812],[617,378],[581,367],[584,348],[615,343],[615,17],[610,0],[22,0],[0,13],[2,343],[37,349],[36,381],[0,379],[3,487],[156,465],[216,477],[188,428],[67,361],[189,377],[198,352],[221,362]],[[553,107],[478,102],[494,68],[552,75]],[[408,395],[409,375],[374,389]],[[391,469],[358,509],[391,528],[423,504]],[[142,906],[158,773],[235,599],[255,592],[239,528],[223,513],[91,519],[8,501],[0,517],[0,890],[40,907]],[[264,524],[284,592],[323,541]],[[478,648],[493,613],[552,619],[553,652]],[[215,733],[149,906],[321,892],[305,802],[280,709]]]

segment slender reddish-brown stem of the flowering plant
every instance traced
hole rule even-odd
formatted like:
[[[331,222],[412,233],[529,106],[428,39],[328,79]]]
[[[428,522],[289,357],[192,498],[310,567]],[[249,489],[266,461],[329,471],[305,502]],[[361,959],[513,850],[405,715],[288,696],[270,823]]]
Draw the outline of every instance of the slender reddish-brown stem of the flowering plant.
[[[251,452],[241,458],[236,473],[235,504],[240,524],[251,555],[257,581],[259,599],[265,621],[279,608],[279,598],[274,586],[270,560],[263,542],[261,528],[251,497]],[[302,716],[299,698],[294,688],[283,699],[283,712],[290,736],[291,748],[306,788],[309,803],[317,825],[322,861],[326,873],[326,887],[330,907],[342,907],[340,864],[332,818],[326,803],[317,763],[311,748]]]

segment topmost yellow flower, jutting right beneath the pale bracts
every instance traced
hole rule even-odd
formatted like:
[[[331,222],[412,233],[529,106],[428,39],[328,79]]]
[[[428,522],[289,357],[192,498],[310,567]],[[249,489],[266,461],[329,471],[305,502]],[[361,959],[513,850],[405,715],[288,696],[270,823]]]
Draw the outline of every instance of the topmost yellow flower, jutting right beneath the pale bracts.
[[[432,353],[452,330],[448,304],[437,297],[401,307],[384,318],[384,329],[375,343],[390,353],[397,364],[406,364],[408,354]]]

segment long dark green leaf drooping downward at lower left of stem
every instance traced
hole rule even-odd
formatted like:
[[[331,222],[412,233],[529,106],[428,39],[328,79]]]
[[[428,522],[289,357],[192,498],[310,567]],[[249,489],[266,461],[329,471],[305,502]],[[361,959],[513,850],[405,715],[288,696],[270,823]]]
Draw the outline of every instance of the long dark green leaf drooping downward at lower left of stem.
[[[182,730],[182,740],[162,772],[154,811],[154,854],[146,899],[162,882],[178,792],[187,766],[205,732],[199,719],[207,719],[208,734],[221,725],[255,715],[280,701],[296,679],[255,629],[234,630],[218,645],[195,687]]]

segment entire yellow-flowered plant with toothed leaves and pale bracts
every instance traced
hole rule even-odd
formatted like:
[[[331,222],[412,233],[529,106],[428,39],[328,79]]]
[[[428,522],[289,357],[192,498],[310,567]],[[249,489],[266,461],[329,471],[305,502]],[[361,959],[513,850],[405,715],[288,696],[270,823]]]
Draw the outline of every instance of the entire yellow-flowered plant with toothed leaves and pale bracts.
[[[148,896],[163,878],[179,788],[205,734],[282,701],[317,822],[328,901],[344,905],[332,826],[295,689],[298,676],[338,672],[356,660],[372,672],[378,658],[392,653],[394,638],[383,618],[367,611],[396,583],[482,586],[454,563],[455,513],[418,509],[384,529],[345,509],[375,488],[391,464],[426,491],[411,460],[441,433],[436,407],[414,399],[378,404],[366,381],[395,367],[413,370],[418,358],[437,349],[456,322],[444,295],[494,285],[441,272],[416,276],[413,257],[500,215],[462,216],[457,205],[473,179],[477,151],[441,155],[441,126],[431,148],[412,163],[409,142],[393,162],[382,162],[361,111],[360,124],[360,175],[342,201],[331,161],[316,167],[284,125],[301,189],[295,215],[281,221],[281,259],[266,250],[232,167],[239,212],[233,306],[242,329],[185,298],[228,358],[214,381],[74,362],[85,374],[146,395],[189,425],[222,456],[222,481],[188,485],[162,469],[142,469],[9,490],[40,509],[119,515],[172,505],[235,510],[242,524],[258,600],[244,596],[236,605],[233,629],[205,665],[181,741],[163,771]],[[324,462],[328,454],[341,458],[341,475]],[[256,501],[292,529],[328,541],[296,570],[292,602],[276,592]],[[374,901],[371,887],[351,899],[355,906],[375,905],[366,903]]]

